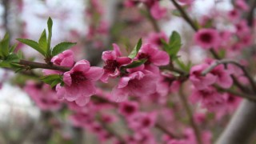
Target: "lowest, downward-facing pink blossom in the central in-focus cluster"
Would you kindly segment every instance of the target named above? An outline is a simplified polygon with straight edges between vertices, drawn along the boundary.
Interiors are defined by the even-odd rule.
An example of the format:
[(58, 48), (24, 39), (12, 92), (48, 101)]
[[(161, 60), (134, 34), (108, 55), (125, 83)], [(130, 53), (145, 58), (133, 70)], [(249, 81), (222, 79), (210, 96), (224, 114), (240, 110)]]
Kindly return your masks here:
[(128, 95), (149, 96), (156, 90), (158, 77), (150, 71), (136, 71), (120, 78), (118, 86), (112, 90), (112, 96), (117, 102), (124, 101)]

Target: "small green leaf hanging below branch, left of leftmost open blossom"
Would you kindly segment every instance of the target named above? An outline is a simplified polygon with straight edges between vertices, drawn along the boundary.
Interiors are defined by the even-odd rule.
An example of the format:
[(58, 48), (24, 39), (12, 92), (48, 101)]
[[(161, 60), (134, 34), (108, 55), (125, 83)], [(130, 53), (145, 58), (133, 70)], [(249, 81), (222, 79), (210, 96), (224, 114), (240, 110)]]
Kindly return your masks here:
[(49, 84), (51, 87), (56, 86), (58, 83), (62, 83), (62, 76), (59, 74), (50, 74), (40, 78), (42, 82)]

